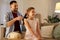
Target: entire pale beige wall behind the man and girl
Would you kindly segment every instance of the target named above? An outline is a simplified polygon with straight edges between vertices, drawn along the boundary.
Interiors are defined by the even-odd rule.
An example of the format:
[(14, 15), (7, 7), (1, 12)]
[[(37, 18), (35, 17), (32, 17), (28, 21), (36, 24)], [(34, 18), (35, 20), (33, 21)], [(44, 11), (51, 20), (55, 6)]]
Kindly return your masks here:
[[(3, 23), (4, 14), (9, 11), (11, 0), (0, 0), (0, 23)], [(41, 14), (42, 22), (48, 15), (52, 15), (55, 10), (55, 3), (60, 0), (16, 0), (18, 2), (19, 12), (24, 14), (28, 7), (35, 7), (36, 12)]]

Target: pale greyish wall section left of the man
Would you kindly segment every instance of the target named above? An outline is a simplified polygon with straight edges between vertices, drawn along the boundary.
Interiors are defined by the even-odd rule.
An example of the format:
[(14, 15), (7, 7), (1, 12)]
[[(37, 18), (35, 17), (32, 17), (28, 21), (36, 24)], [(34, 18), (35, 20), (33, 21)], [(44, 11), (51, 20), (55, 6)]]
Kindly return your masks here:
[(0, 0), (0, 24), (4, 24), (5, 14), (10, 11), (9, 10), (9, 2), (8, 0)]

